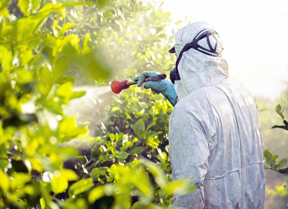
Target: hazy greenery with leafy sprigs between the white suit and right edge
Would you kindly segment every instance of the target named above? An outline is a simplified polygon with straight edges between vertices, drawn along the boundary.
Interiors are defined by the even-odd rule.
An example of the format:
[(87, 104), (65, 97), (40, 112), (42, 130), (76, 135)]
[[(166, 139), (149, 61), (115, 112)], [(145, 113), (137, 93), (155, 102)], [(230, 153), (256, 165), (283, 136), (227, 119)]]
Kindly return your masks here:
[[(288, 88), (287, 88), (288, 89)], [(279, 103), (283, 103), (284, 106), (287, 104), (287, 89), (282, 93), (282, 97), (278, 99)], [(268, 107), (270, 104), (270, 108), (266, 109), (269, 111), (266, 112), (266, 116), (262, 117), (261, 124), (262, 124), (262, 130), (263, 130), (263, 139), (264, 139), (264, 147), (269, 148), (269, 150), (272, 150), (273, 153), (277, 153), (277, 155), (272, 155), (270, 151), (265, 150), (264, 151), (264, 159), (268, 166), (264, 165), (264, 168), (266, 168), (265, 176), (266, 176), (266, 197), (265, 197), (265, 208), (286, 208), (287, 205), (287, 187), (286, 185), (288, 183), (287, 174), (288, 174), (288, 168), (284, 167), (287, 164), (287, 152), (283, 147), (287, 147), (287, 127), (286, 127), (286, 120), (284, 116), (285, 108), (281, 107), (280, 104), (275, 105), (271, 101), (265, 101), (265, 106)], [(276, 103), (277, 104), (277, 103)], [(275, 109), (276, 106), (276, 109)], [(263, 106), (262, 106), (263, 108)], [(286, 107), (287, 108), (287, 107)], [(276, 110), (276, 113), (278, 114), (278, 117), (276, 117), (273, 113), (273, 109)], [(279, 122), (279, 116), (283, 120), (284, 126), (275, 126), (274, 124), (278, 124)], [(274, 126), (272, 129), (270, 127), (273, 124)], [(277, 142), (277, 143), (275, 143)], [(281, 157), (280, 161), (277, 160), (279, 156)], [(273, 172), (269, 172), (269, 170), (274, 170), (280, 174), (279, 175)], [(275, 189), (269, 189), (269, 188), (275, 188)]]

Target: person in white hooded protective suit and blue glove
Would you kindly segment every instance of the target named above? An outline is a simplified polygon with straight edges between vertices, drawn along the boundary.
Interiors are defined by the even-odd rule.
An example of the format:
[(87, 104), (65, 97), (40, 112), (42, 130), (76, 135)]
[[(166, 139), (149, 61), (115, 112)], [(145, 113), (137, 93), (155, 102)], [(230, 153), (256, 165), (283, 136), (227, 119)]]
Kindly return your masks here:
[[(162, 93), (175, 105), (169, 121), (173, 180), (188, 178), (198, 187), (175, 194), (179, 208), (263, 208), (265, 175), (262, 130), (252, 94), (228, 78), (222, 42), (205, 22), (177, 31), (176, 67), (170, 79), (148, 81), (144, 88)], [(145, 77), (158, 74), (145, 72)], [(174, 85), (173, 85), (174, 84)]]

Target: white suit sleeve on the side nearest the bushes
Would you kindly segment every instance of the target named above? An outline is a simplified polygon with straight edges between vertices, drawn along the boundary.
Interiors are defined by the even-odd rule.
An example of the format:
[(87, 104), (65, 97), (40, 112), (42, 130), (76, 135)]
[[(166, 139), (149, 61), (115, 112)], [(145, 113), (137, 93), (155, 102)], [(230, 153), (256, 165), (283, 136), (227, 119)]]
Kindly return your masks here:
[(188, 195), (174, 194), (173, 205), (183, 209), (204, 207), (204, 178), (210, 156), (204, 121), (191, 112), (175, 111), (169, 122), (169, 157), (173, 180), (188, 178), (197, 187)]

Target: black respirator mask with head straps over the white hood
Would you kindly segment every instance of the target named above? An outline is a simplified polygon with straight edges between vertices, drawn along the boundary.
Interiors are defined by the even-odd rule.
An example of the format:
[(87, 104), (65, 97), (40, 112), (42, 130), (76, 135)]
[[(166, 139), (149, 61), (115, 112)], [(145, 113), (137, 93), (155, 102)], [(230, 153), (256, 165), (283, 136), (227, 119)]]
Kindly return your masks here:
[[(207, 39), (207, 43), (209, 46), (209, 49), (204, 48), (203, 46), (199, 45), (198, 41), (200, 41), (201, 39)], [(212, 46), (212, 44), (215, 43), (215, 46)], [(220, 45), (220, 48), (218, 48), (218, 52), (217, 52), (217, 46)], [(170, 72), (170, 80), (172, 81), (173, 84), (175, 84), (175, 81), (179, 81), (180, 75), (178, 72), (178, 64), (181, 60), (181, 57), (183, 55), (184, 52), (190, 50), (191, 48), (202, 52), (204, 54), (207, 54), (209, 56), (213, 56), (213, 57), (221, 57), (222, 56), (222, 42), (221, 39), (218, 35), (218, 33), (216, 31), (214, 31), (213, 29), (204, 29), (202, 31), (200, 31), (192, 40), (192, 42), (187, 43), (182, 51), (179, 54), (179, 57), (177, 58), (176, 56), (176, 52), (175, 52), (175, 47), (173, 46), (168, 52), (170, 52), (170, 56), (171, 56), (171, 60), (175, 60), (175, 57), (177, 58), (176, 60), (176, 66), (175, 68)], [(220, 49), (220, 51), (219, 51)]]

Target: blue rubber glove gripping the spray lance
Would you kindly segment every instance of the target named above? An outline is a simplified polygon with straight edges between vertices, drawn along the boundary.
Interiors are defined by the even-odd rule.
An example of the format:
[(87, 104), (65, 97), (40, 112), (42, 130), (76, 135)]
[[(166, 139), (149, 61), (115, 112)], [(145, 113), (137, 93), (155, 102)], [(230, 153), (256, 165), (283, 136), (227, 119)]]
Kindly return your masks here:
[[(140, 87), (143, 84), (145, 78), (158, 74), (161, 73), (154, 71), (144, 72), (140, 76), (134, 78), (133, 81), (138, 80), (137, 86)], [(144, 88), (151, 88), (153, 94), (163, 94), (163, 96), (165, 96), (165, 98), (173, 105), (173, 107), (175, 106), (177, 94), (174, 89), (174, 84), (168, 78), (165, 78), (161, 81), (147, 81), (144, 85)]]

